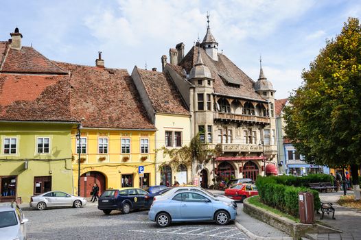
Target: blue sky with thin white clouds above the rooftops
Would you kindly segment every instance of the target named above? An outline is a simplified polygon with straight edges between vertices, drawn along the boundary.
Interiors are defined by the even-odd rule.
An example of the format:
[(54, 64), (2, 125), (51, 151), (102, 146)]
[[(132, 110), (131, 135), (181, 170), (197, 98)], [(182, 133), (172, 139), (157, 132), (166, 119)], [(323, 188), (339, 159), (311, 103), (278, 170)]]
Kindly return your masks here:
[(23, 45), (51, 60), (106, 67), (161, 71), (161, 56), (178, 43), (185, 53), (210, 27), (223, 52), (253, 80), (264, 75), (290, 96), (302, 84), (326, 40), (340, 34), (349, 17), (360, 18), (353, 0), (1, 0), (0, 40), (19, 27)]

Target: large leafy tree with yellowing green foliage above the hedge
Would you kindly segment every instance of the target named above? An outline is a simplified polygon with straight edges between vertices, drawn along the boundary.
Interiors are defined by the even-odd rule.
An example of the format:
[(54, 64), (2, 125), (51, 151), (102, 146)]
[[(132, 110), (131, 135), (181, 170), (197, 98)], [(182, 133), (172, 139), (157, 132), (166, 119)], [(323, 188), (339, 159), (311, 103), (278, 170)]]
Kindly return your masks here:
[(351, 167), (360, 199), (361, 26), (349, 18), (336, 38), (303, 70), (303, 84), (285, 108), (288, 138), (307, 163)]

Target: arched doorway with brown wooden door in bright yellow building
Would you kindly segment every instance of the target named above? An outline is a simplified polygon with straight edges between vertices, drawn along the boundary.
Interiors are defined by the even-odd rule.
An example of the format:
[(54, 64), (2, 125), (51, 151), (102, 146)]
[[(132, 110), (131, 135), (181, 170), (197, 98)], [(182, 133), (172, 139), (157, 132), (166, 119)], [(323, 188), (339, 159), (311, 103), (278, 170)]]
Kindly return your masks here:
[(88, 171), (80, 176), (80, 195), (82, 197), (91, 197), (91, 189), (94, 184), (99, 187), (99, 195), (106, 189), (105, 176), (99, 171)]

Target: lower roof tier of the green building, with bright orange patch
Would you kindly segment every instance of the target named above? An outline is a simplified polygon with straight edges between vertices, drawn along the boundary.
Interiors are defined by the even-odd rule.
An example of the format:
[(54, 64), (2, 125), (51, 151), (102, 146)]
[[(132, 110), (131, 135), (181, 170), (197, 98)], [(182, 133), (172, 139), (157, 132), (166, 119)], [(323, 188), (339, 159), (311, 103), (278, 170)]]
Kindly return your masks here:
[(68, 75), (0, 73), (0, 120), (71, 121)]

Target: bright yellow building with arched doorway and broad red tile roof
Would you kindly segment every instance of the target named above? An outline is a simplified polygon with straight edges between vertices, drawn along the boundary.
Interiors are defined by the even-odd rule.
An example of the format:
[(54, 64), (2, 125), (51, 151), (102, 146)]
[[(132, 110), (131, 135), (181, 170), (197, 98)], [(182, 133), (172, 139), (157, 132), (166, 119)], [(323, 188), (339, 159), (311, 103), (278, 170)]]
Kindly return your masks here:
[[(78, 129), (71, 132), (74, 191), (90, 197), (94, 183), (105, 189), (154, 184), (155, 132), (128, 72), (56, 62), (71, 73), (71, 115)], [(143, 166), (143, 181), (139, 167)]]

